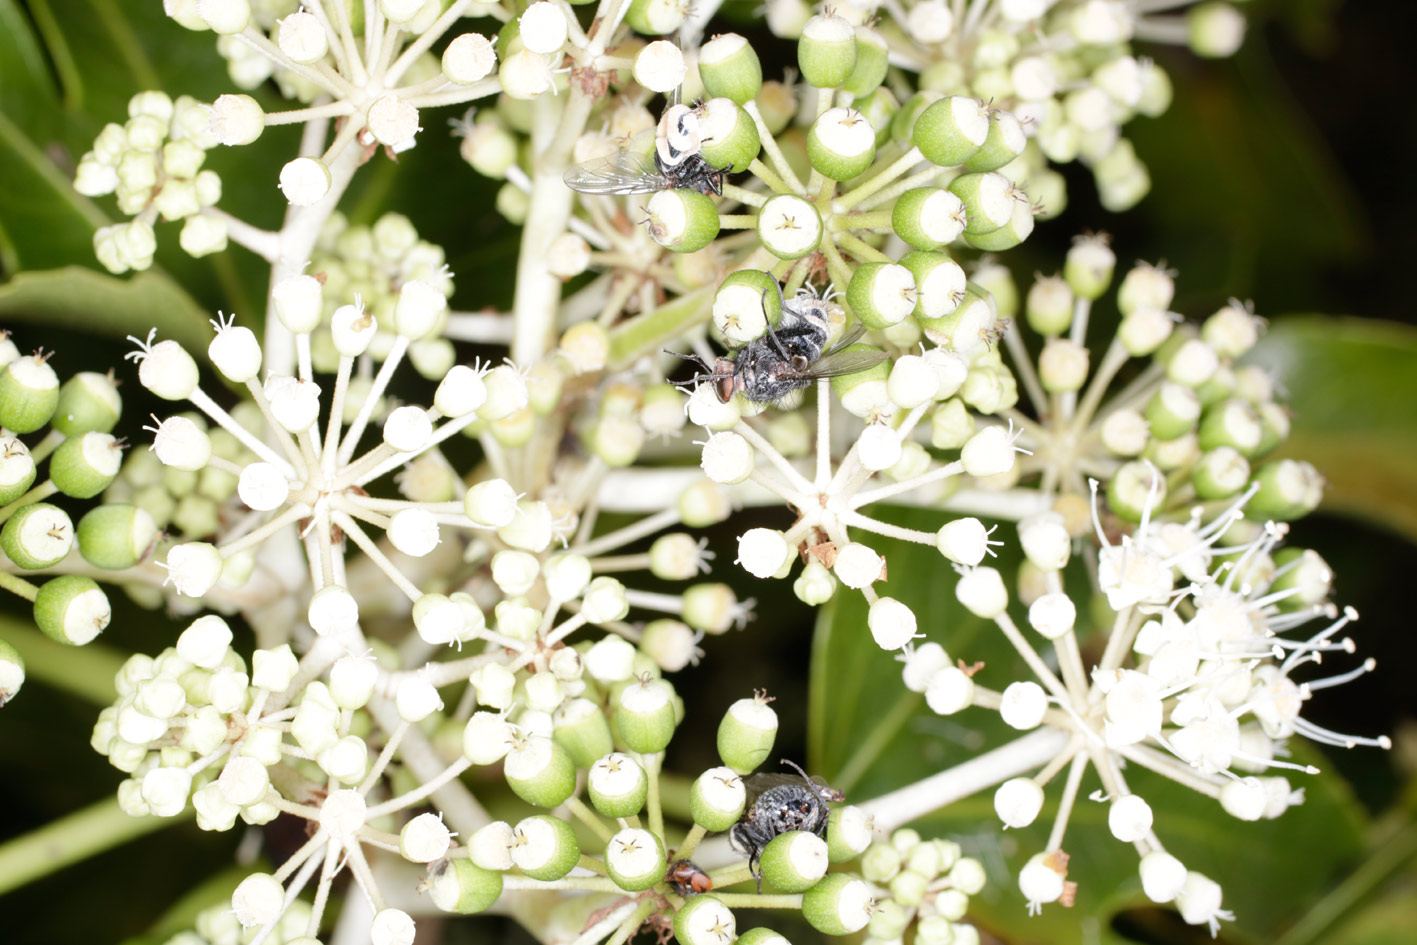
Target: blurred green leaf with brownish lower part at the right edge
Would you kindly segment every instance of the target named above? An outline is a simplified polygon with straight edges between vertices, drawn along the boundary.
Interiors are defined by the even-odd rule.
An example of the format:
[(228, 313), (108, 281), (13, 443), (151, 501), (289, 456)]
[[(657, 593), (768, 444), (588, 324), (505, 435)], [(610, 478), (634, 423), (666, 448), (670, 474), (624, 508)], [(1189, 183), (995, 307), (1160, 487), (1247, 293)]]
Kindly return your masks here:
[(1250, 356), (1285, 391), (1294, 429), (1282, 455), (1314, 463), (1323, 507), (1417, 541), (1417, 329), (1294, 316)]

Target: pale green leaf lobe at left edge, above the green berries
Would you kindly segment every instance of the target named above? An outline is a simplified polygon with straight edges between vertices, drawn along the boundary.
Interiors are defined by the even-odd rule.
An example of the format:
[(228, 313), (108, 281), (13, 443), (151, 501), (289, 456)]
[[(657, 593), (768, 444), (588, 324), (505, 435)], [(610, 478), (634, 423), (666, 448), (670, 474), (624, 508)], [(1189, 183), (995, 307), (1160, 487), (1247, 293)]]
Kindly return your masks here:
[[(119, 279), (103, 272), (65, 266), (21, 272), (0, 286), (0, 322), (43, 324), (43, 341), (55, 330), (111, 334), (147, 334), (176, 339), (191, 351), (205, 351), (211, 340), (208, 315), (187, 292), (162, 272), (139, 272)], [(21, 339), (23, 340), (23, 339)]]

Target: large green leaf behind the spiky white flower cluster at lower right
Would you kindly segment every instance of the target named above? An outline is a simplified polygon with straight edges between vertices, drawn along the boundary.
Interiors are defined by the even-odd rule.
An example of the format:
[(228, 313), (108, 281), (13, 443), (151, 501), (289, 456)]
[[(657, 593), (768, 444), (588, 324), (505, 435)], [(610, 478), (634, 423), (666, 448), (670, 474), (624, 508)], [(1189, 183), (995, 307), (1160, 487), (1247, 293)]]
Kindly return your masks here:
[[(934, 528), (938, 517), (920, 510), (876, 510), (877, 516), (914, 528)], [(920, 629), (941, 643), (951, 659), (982, 662), (979, 684), (1002, 690), (1030, 679), (1017, 653), (992, 623), (969, 615), (954, 595), (956, 577), (934, 548), (871, 537), (890, 567), (890, 579), (877, 587), (911, 606)], [(1006, 541), (996, 564), (1016, 572), (1015, 541)], [(1068, 575), (1070, 594), (1087, 601), (1085, 574)], [(1074, 579), (1077, 585), (1074, 587)], [(1081, 647), (1094, 652), (1101, 640), (1080, 622)], [(1022, 622), (1022, 608), (1015, 605)], [(823, 611), (812, 652), (809, 757), (812, 768), (853, 799), (880, 796), (891, 789), (968, 761), (1016, 738), (996, 713), (982, 708), (939, 717), (924, 700), (905, 691), (901, 666), (871, 640), (866, 604), (856, 594), (837, 595)], [(1306, 761), (1304, 747), (1294, 747)], [(1318, 757), (1314, 757), (1318, 761)], [(1071, 942), (1129, 941), (1128, 927), (1145, 927), (1159, 915), (1141, 891), (1135, 850), (1115, 840), (1107, 827), (1107, 806), (1087, 799), (1100, 788), (1090, 769), (1068, 820), (1063, 847), (1071, 856), (1068, 878), (1078, 884), (1071, 910), (1049, 905), (1029, 917), (1017, 891), (1017, 871), (1044, 849), (1061, 792), (1061, 776), (1047, 789), (1049, 803), (1039, 820), (1023, 830), (999, 830), (993, 791), (982, 791), (917, 823), (922, 833), (961, 842), (989, 873), (989, 885), (971, 900), (971, 914), (1005, 941)], [(1278, 820), (1241, 823), (1219, 803), (1151, 775), (1127, 771), (1128, 785), (1146, 798), (1156, 815), (1156, 833), (1187, 867), (1220, 883), (1224, 908), (1236, 921), (1226, 935), (1237, 941), (1268, 941), (1292, 921), (1342, 870), (1362, 853), (1363, 815), (1346, 785), (1331, 775), (1294, 779), (1306, 802)], [(1275, 895), (1275, 890), (1284, 890)], [(1125, 917), (1121, 925), (1114, 924)], [(1168, 921), (1176, 921), (1169, 917)]]

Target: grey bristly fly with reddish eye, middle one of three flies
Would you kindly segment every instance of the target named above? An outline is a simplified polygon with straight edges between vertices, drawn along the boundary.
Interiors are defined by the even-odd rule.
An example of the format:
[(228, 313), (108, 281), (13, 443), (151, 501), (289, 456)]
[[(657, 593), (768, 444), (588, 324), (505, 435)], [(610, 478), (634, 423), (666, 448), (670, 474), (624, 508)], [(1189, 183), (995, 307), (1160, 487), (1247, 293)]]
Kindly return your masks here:
[(818, 378), (856, 374), (886, 360), (884, 351), (845, 350), (866, 332), (862, 323), (849, 329), (832, 347), (825, 347), (830, 333), (828, 316), (828, 298), (803, 288), (792, 299), (782, 300), (782, 317), (777, 327), (769, 324), (762, 337), (728, 351), (713, 367), (691, 354), (666, 353), (703, 368), (684, 385), (713, 381), (724, 404), (734, 394), (758, 404), (775, 404)]

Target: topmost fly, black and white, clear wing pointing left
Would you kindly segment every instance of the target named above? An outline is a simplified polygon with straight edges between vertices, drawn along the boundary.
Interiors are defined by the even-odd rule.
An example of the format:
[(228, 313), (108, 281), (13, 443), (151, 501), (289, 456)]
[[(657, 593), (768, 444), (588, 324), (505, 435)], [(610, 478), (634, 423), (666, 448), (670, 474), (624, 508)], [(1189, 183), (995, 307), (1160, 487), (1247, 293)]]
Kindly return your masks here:
[(625, 150), (567, 170), (565, 186), (582, 194), (653, 194), (660, 190), (721, 194), (723, 171), (703, 159), (701, 146), (699, 112), (687, 105), (670, 105), (659, 119), (652, 149), (649, 140), (640, 142), (636, 135)]

